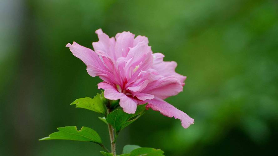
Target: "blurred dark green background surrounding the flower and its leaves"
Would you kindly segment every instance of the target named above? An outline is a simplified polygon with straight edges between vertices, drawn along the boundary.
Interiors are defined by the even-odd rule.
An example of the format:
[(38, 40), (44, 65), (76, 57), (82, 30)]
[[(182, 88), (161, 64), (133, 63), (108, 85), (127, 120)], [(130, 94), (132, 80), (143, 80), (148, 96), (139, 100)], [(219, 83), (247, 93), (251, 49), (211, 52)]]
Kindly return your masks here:
[(98, 114), (69, 104), (93, 97), (101, 80), (65, 45), (92, 48), (94, 31), (130, 31), (178, 62), (184, 91), (167, 101), (195, 119), (148, 110), (120, 133), (125, 144), (166, 156), (278, 155), (277, 0), (1, 0), (0, 155), (100, 155), (97, 144), (38, 139), (67, 125), (95, 129)]

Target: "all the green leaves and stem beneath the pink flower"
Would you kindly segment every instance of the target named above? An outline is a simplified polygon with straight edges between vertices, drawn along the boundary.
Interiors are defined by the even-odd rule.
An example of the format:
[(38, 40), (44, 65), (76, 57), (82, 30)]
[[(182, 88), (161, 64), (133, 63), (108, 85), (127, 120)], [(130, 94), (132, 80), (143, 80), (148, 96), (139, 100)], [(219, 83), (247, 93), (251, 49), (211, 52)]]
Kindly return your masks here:
[[(109, 103), (108, 105), (106, 105)], [(112, 105), (111, 105), (112, 104)], [(99, 117), (101, 121), (105, 124), (112, 125), (115, 129), (115, 138), (111, 140), (111, 148), (112, 142), (116, 143), (116, 139), (118, 137), (118, 133), (120, 130), (124, 129), (129, 124), (133, 123), (140, 116), (142, 116), (146, 110), (146, 104), (138, 105), (137, 110), (134, 114), (127, 114), (123, 110), (116, 108), (119, 104), (118, 100), (108, 100), (103, 96), (103, 92), (101, 94), (97, 94), (93, 99), (89, 97), (79, 98), (70, 105), (76, 105), (76, 108), (84, 108), (88, 110), (92, 110), (97, 113), (104, 114), (104, 117)], [(106, 108), (107, 107), (107, 108)], [(114, 110), (113, 110), (114, 109)], [(106, 115), (107, 110), (112, 110), (111, 113)], [(102, 144), (99, 134), (91, 128), (82, 127), (80, 130), (77, 129), (76, 126), (66, 126), (57, 128), (59, 131), (50, 134), (48, 137), (44, 137), (41, 140), (75, 140), (75, 141), (88, 141), (99, 144), (103, 149), (108, 152), (100, 151), (104, 156), (113, 156), (112, 153), (109, 153), (109, 150)], [(111, 134), (112, 133), (112, 134)], [(109, 129), (109, 135), (113, 135), (113, 131)], [(111, 139), (111, 138), (110, 138)], [(151, 148), (140, 148), (140, 150), (135, 150), (140, 148), (137, 145), (126, 145), (123, 149), (122, 156), (135, 156), (135, 155), (153, 155), (153, 154), (161, 154), (160, 150), (151, 149)], [(135, 150), (135, 151), (134, 151)], [(112, 150), (113, 151), (113, 150)], [(162, 152), (163, 154), (163, 152)], [(116, 155), (117, 156), (117, 155)]]

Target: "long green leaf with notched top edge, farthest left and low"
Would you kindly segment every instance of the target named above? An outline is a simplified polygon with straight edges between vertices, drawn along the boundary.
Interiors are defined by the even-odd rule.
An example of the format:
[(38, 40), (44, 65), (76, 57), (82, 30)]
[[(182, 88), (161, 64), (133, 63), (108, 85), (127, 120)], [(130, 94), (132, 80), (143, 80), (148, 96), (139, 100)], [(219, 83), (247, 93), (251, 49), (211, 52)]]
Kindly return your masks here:
[(101, 144), (101, 139), (99, 134), (88, 127), (82, 127), (77, 130), (76, 126), (66, 126), (57, 128), (59, 132), (54, 132), (48, 137), (44, 137), (39, 140), (76, 140), (76, 141), (90, 141), (97, 144)]

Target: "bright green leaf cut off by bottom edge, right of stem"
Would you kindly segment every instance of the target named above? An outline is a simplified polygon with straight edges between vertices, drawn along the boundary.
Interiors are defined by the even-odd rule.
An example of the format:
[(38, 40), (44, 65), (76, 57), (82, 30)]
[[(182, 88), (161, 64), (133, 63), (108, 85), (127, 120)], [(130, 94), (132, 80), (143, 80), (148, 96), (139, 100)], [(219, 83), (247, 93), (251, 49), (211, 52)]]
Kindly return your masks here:
[(164, 156), (164, 152), (160, 149), (142, 147), (131, 151), (129, 156)]

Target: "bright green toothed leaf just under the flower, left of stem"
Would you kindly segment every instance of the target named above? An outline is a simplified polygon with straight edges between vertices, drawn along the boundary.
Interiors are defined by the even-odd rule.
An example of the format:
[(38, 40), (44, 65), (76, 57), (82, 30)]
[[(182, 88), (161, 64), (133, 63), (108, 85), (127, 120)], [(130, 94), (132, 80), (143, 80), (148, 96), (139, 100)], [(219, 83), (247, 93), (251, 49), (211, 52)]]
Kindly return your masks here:
[(97, 94), (94, 97), (94, 99), (89, 97), (79, 98), (73, 101), (73, 103), (71, 103), (70, 105), (76, 105), (76, 108), (85, 108), (87, 110), (92, 110), (97, 113), (105, 114), (105, 102), (101, 97), (102, 95)]

